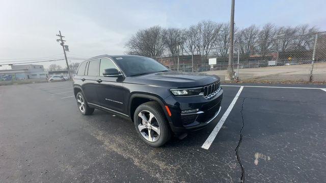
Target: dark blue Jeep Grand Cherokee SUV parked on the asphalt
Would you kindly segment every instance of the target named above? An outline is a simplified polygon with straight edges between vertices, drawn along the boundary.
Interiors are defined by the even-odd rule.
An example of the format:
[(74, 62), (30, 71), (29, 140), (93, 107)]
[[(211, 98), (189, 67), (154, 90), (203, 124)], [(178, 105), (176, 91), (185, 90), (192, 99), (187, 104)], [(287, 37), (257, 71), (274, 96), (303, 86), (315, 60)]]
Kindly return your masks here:
[(184, 138), (220, 112), (220, 78), (168, 70), (156, 60), (134, 55), (100, 55), (80, 64), (73, 79), (80, 112), (100, 109), (131, 119), (151, 146), (174, 133)]

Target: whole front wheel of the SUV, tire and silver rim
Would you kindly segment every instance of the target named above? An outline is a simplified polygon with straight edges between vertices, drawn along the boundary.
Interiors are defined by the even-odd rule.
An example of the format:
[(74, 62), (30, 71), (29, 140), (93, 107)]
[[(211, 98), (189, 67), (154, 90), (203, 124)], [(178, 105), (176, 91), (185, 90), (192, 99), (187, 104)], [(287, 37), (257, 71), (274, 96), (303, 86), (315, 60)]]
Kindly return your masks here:
[(133, 115), (134, 126), (145, 143), (159, 147), (171, 138), (171, 130), (157, 102), (146, 102)]

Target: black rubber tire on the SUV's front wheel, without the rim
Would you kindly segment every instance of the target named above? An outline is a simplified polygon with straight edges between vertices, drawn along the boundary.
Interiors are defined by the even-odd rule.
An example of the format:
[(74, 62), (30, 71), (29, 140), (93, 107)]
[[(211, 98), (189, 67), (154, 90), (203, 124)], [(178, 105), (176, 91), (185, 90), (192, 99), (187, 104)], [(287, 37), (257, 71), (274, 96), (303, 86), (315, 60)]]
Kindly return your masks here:
[[(149, 141), (148, 139), (146, 139), (142, 135), (141, 131), (139, 130), (138, 126), (139, 125), (144, 125), (144, 124), (140, 124), (140, 123), (142, 123), (141, 121), (143, 121), (143, 120), (142, 120), (141, 117), (138, 116), (138, 114), (140, 114), (141, 112), (144, 112), (144, 111), (145, 112), (150, 112), (150, 113), (152, 113), (154, 115), (155, 119), (153, 119), (154, 122), (152, 124), (152, 127), (155, 127), (157, 125), (159, 127), (160, 134), (159, 134), (158, 138), (155, 141)], [(153, 147), (162, 146), (167, 141), (169, 141), (171, 136), (172, 136), (172, 131), (171, 131), (170, 126), (168, 124), (168, 120), (167, 120), (161, 106), (157, 102), (154, 102), (154, 101), (146, 102), (146, 103), (138, 106), (137, 109), (134, 112), (133, 121), (134, 121), (135, 129), (138, 132), (138, 134), (140, 135), (140, 137), (143, 139), (143, 141), (145, 143), (147, 143), (150, 146), (153, 146)], [(156, 124), (155, 126), (154, 126), (154, 123)], [(143, 129), (143, 130), (146, 131), (147, 129)], [(149, 133), (149, 132), (150, 131), (148, 131), (147, 133)], [(152, 130), (152, 133), (156, 133), (156, 131)], [(144, 134), (144, 132), (143, 132), (143, 134)], [(158, 134), (156, 133), (156, 135), (158, 135)]]

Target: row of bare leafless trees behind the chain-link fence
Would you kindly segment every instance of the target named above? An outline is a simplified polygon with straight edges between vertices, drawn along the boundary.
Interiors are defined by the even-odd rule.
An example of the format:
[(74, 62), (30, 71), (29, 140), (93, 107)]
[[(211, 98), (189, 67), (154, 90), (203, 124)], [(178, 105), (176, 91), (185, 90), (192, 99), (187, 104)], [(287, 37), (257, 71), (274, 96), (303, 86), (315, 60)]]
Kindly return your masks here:
[[(314, 44), (314, 33), (319, 28), (309, 24), (276, 26), (272, 23), (246, 28), (234, 28), (234, 45), (239, 44), (240, 54), (261, 55), (271, 50), (309, 50)], [(301, 36), (304, 35), (304, 36)], [(163, 28), (159, 25), (139, 29), (125, 44), (127, 54), (148, 57), (162, 55), (215, 54), (228, 56), (230, 46), (230, 24), (203, 20), (188, 28)], [(279, 41), (274, 41), (279, 40)], [(213, 51), (212, 51), (213, 49)]]

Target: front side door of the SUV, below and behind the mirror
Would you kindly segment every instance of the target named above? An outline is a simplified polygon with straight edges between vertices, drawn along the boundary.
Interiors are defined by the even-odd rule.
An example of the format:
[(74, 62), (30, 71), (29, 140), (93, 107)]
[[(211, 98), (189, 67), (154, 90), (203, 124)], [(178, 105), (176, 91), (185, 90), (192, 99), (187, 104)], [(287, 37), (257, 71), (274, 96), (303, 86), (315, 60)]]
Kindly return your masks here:
[(124, 98), (126, 97), (126, 88), (123, 87), (123, 77), (104, 77), (103, 70), (119, 68), (114, 64), (111, 58), (101, 58), (100, 60), (100, 75), (97, 80), (100, 80), (97, 87), (98, 100), (100, 105), (108, 110), (118, 113), (126, 114), (126, 104)]

